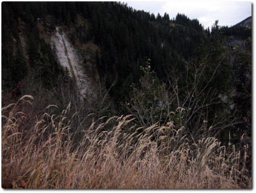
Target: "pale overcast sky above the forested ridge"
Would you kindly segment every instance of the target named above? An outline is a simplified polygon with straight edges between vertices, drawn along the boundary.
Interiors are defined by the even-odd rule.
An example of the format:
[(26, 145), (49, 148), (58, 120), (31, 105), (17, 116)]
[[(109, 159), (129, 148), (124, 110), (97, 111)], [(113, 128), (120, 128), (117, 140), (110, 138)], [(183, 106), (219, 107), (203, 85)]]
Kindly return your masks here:
[(170, 19), (177, 13), (184, 13), (190, 19), (198, 19), (205, 28), (211, 29), (216, 20), (219, 25), (235, 25), (252, 15), (252, 2), (249, 1), (125, 1), (136, 10), (160, 13), (166, 12)]

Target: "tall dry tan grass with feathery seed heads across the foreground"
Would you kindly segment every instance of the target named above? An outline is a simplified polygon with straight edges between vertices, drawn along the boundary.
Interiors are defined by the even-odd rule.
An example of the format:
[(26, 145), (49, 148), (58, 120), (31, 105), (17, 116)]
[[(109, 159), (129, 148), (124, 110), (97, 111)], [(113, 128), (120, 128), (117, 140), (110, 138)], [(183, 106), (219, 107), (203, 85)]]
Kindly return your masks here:
[(191, 143), (172, 122), (136, 128), (132, 116), (94, 121), (74, 142), (70, 106), (32, 118), (31, 99), (2, 108), (2, 188), (252, 188), (246, 147)]

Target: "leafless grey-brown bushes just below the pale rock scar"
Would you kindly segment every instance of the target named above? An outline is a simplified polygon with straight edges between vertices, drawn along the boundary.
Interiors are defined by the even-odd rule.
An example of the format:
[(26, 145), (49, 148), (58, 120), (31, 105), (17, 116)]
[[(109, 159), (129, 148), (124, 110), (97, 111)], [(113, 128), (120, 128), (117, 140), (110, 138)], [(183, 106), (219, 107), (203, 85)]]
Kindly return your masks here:
[[(104, 86), (88, 86), (84, 98), (81, 97), (79, 89), (71, 78), (59, 77), (56, 86), (46, 89), (41, 78), (28, 76), (21, 89), (23, 95), (33, 95), (34, 100), (31, 106), (31, 113), (41, 116), (45, 113), (45, 108), (54, 104), (46, 110), (49, 114), (59, 115), (62, 109), (70, 105), (70, 110), (65, 116), (70, 119), (70, 130), (73, 133), (73, 140), (81, 138), (80, 134), (84, 128), (90, 127), (93, 119), (102, 116), (110, 117), (114, 114), (113, 103), (108, 96), (108, 91)], [(48, 119), (48, 121), (51, 121)]]

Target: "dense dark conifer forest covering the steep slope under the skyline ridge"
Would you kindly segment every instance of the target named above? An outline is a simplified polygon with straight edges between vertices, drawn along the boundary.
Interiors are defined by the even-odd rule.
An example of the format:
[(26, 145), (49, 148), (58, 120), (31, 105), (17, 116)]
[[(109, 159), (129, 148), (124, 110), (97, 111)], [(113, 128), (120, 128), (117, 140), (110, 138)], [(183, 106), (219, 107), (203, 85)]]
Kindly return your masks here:
[[(5, 14), (5, 11), (8, 13)], [(139, 80), (139, 68), (145, 64), (146, 57), (151, 59), (151, 69), (165, 81), (170, 66), (175, 65), (180, 71), (185, 68), (182, 60), (188, 61), (192, 57), (197, 43), (203, 37), (199, 21), (191, 21), (184, 14), (177, 14), (172, 21), (168, 14), (163, 17), (159, 14), (154, 16), (117, 2), (17, 2), (4, 4), (2, 26), (9, 31), (9, 34), (5, 34), (7, 30), (4, 30), (4, 40), (10, 39), (10, 33), (18, 39), (18, 22), (24, 21), (30, 25), (26, 26), (31, 33), (31, 48), (28, 49), (31, 50), (30, 56), (34, 57), (34, 52), (38, 52), (36, 46), (39, 45), (36, 21), (48, 14), (54, 17), (55, 24), (74, 24), (77, 14), (88, 19), (91, 30), (85, 31), (77, 27), (77, 30), (84, 30), (84, 35), (79, 36), (79, 40), (86, 42), (93, 39), (100, 46), (101, 59), (97, 68), (101, 76), (107, 76), (107, 87), (118, 74), (115, 90), (111, 91), (113, 95), (117, 95), (116, 98), (120, 95), (123, 97), (120, 88), (129, 75), (133, 77), (133, 81)]]

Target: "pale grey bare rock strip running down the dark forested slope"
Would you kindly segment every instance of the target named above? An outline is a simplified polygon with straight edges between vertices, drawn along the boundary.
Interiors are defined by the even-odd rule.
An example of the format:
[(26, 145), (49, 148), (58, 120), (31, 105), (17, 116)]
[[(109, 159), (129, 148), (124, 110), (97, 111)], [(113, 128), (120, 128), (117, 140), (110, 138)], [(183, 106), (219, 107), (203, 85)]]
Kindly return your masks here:
[(80, 95), (84, 98), (90, 83), (88, 82), (88, 76), (80, 65), (76, 49), (74, 49), (65, 33), (59, 27), (56, 27), (56, 34), (51, 36), (51, 42), (56, 47), (59, 62), (64, 68), (68, 69), (70, 76), (76, 80)]

